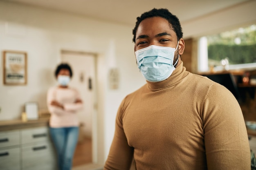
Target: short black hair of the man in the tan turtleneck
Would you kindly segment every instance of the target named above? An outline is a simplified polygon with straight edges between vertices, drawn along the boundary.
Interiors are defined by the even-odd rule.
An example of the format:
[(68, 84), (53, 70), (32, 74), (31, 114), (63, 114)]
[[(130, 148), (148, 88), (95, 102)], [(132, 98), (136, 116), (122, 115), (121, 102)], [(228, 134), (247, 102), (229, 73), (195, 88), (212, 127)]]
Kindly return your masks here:
[(132, 30), (132, 34), (133, 34), (132, 41), (133, 42), (135, 42), (137, 29), (138, 29), (141, 21), (145, 20), (146, 18), (152, 18), (152, 17), (162, 17), (162, 18), (166, 19), (170, 24), (170, 28), (173, 29), (173, 31), (176, 33), (177, 40), (180, 40), (182, 38), (183, 33), (182, 33), (182, 28), (180, 26), (179, 19), (175, 15), (173, 15), (171, 12), (169, 12), (168, 9), (162, 9), (162, 8), (155, 9), (154, 8), (148, 12), (142, 13), (140, 17), (137, 17), (137, 22), (135, 24), (134, 29)]

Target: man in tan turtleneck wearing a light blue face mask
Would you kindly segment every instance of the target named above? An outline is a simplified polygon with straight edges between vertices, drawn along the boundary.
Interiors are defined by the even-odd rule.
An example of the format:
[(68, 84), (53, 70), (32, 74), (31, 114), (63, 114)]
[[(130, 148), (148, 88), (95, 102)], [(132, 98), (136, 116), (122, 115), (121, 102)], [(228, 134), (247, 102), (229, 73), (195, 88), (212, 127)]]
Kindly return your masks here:
[(183, 67), (182, 28), (167, 9), (137, 18), (137, 65), (147, 83), (122, 101), (105, 170), (249, 170), (243, 114), (224, 86)]

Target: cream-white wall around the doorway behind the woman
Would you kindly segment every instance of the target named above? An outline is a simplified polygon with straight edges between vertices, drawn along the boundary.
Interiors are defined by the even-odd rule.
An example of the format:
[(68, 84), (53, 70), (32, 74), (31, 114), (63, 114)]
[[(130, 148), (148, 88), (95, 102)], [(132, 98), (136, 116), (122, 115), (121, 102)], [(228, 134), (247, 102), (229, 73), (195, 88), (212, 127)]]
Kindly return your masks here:
[[(145, 83), (136, 66), (132, 27), (0, 1), (0, 51), (4, 50), (27, 52), (28, 83), (3, 85), (1, 57), (0, 121), (20, 119), (25, 102), (37, 101), (40, 109), (46, 108), (46, 92), (56, 84), (53, 72), (60, 62), (61, 50), (97, 54), (97, 138), (102, 141), (98, 145), (98, 161), (103, 162), (112, 142), (121, 100)], [(108, 71), (112, 67), (120, 71), (117, 90), (108, 87)]]

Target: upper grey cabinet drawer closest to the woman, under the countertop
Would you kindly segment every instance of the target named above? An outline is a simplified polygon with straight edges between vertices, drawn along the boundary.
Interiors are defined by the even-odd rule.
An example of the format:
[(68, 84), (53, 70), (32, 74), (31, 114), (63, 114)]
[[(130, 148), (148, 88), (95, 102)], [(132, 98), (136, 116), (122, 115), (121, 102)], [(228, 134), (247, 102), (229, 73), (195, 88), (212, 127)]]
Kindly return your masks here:
[(49, 129), (47, 127), (21, 130), (21, 144), (47, 140), (49, 140)]

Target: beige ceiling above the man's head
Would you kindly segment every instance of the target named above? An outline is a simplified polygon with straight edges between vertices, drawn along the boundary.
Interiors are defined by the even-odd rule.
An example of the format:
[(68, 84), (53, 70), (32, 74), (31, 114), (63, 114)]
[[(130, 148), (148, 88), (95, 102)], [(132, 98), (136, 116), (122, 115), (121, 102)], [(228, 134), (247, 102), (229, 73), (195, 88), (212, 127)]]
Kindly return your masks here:
[(134, 26), (137, 16), (167, 8), (181, 23), (224, 10), (248, 0), (5, 0)]

